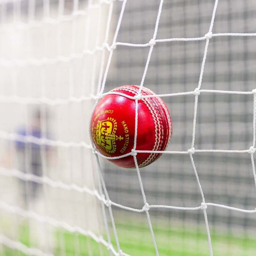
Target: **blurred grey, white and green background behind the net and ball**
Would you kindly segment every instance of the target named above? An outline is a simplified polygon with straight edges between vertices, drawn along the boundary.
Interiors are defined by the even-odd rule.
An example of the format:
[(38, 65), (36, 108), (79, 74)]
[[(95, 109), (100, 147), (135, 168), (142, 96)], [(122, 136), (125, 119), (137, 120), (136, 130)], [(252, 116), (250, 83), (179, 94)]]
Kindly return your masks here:
[[(112, 44), (122, 4), (0, 2), (0, 255), (111, 255), (91, 236), (108, 240), (105, 213), (117, 251), (107, 208), (102, 209), (94, 192), (101, 188), (88, 123), (108, 60), (104, 43)], [(159, 4), (128, 0), (117, 42), (148, 43)], [(204, 36), (213, 6), (213, 0), (164, 1), (156, 39)], [(212, 32), (255, 33), (255, 24), (253, 0), (220, 0)], [(201, 89), (255, 89), (255, 45), (254, 36), (212, 37)], [(205, 40), (157, 43), (144, 86), (156, 94), (194, 91), (204, 47)], [(148, 51), (149, 47), (117, 46), (104, 92), (123, 84), (139, 85)], [(191, 147), (195, 96), (163, 100), (173, 124), (167, 150), (186, 151)], [(195, 148), (249, 149), (252, 114), (253, 95), (202, 92)], [(250, 154), (193, 157), (206, 202), (255, 209)], [(100, 164), (110, 199), (141, 209), (136, 170), (105, 159)], [(202, 202), (189, 155), (164, 154), (140, 174), (151, 205), (196, 207)], [(145, 212), (115, 206), (112, 210), (122, 251), (156, 255)], [(149, 213), (159, 255), (210, 255), (202, 210), (156, 208)], [(255, 213), (208, 206), (207, 216), (213, 255), (256, 254)]]

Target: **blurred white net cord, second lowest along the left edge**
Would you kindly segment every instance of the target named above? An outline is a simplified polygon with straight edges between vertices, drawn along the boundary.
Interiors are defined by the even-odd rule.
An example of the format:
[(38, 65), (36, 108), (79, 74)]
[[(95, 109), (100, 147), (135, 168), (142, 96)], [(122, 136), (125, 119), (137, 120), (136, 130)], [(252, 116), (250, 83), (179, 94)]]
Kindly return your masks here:
[(94, 239), (97, 243), (101, 243), (105, 245), (109, 250), (111, 250), (114, 253), (114, 255), (118, 256), (118, 253), (116, 252), (112, 244), (109, 244), (108, 242), (106, 242), (102, 236), (95, 235), (92, 231), (87, 231), (78, 226), (71, 226), (67, 222), (55, 220), (49, 216), (43, 216), (33, 211), (24, 210), (18, 206), (7, 204), (4, 201), (0, 201), (0, 209), (4, 210), (5, 212), (17, 214), (19, 216), (30, 218), (41, 223), (50, 224), (56, 228), (63, 228), (71, 233), (79, 233), (84, 236), (89, 236), (92, 239)]

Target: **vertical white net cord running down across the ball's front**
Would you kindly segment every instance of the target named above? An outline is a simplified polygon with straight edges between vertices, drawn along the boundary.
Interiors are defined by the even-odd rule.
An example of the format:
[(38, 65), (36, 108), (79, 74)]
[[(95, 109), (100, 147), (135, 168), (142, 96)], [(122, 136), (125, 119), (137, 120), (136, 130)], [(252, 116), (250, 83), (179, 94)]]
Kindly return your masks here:
[[(148, 59), (147, 59), (147, 62), (146, 62), (146, 66), (145, 66), (145, 69), (144, 69), (144, 73), (143, 73), (143, 76), (142, 76), (142, 79), (141, 79), (140, 88), (138, 90), (137, 96), (140, 96), (140, 92), (142, 90), (144, 80), (145, 80), (145, 77), (146, 77), (146, 74), (147, 74), (150, 57), (151, 57), (151, 54), (153, 52), (153, 47), (156, 44), (155, 39), (156, 39), (156, 34), (157, 34), (158, 24), (159, 24), (161, 12), (162, 12), (163, 3), (164, 3), (164, 0), (161, 0), (161, 2), (159, 4), (158, 13), (157, 13), (156, 25), (155, 25), (153, 38), (150, 40), (151, 45), (150, 45), (150, 49), (149, 49), (149, 52), (148, 52)], [(140, 184), (140, 190), (141, 190), (141, 194), (142, 194), (142, 197), (143, 197), (143, 202), (144, 202), (145, 212), (146, 212), (147, 219), (148, 219), (148, 225), (149, 225), (151, 237), (152, 237), (154, 248), (155, 248), (155, 251), (156, 251), (156, 256), (158, 256), (159, 252), (158, 252), (158, 248), (157, 248), (157, 244), (156, 244), (156, 238), (155, 238), (152, 223), (151, 223), (151, 220), (150, 220), (150, 215), (148, 213), (149, 207), (148, 207), (148, 203), (147, 203), (147, 200), (146, 200), (146, 195), (145, 195), (145, 192), (144, 192), (142, 180), (141, 180), (141, 177), (140, 177), (140, 169), (139, 169), (139, 166), (138, 166), (138, 163), (137, 163), (137, 158), (136, 158), (137, 153), (135, 153), (136, 144), (137, 144), (137, 132), (138, 132), (138, 99), (135, 99), (135, 132), (134, 132), (134, 143), (133, 143), (133, 150), (134, 150), (133, 159), (134, 159), (134, 163), (135, 163), (136, 170), (137, 170), (137, 175), (138, 175), (139, 184)]]

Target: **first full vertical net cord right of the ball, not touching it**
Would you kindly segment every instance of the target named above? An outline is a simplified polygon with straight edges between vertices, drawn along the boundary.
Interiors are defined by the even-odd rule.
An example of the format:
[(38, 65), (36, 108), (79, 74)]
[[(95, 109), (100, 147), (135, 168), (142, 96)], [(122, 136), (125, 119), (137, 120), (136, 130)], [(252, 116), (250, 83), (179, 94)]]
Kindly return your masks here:
[(193, 132), (192, 132), (192, 143), (191, 143), (191, 150), (189, 152), (189, 156), (190, 156), (190, 160), (193, 166), (193, 170), (195, 172), (196, 175), (196, 181), (202, 196), (202, 201), (203, 201), (203, 211), (204, 211), (204, 220), (205, 220), (205, 227), (206, 227), (206, 233), (207, 233), (207, 237), (208, 237), (208, 246), (209, 246), (209, 250), (210, 250), (210, 255), (213, 256), (213, 251), (212, 251), (212, 242), (211, 242), (211, 235), (210, 235), (210, 229), (209, 229), (209, 223), (208, 223), (208, 219), (207, 219), (207, 213), (206, 213), (206, 208), (207, 206), (205, 205), (205, 200), (204, 200), (204, 193), (203, 193), (203, 189), (201, 187), (200, 184), (200, 180), (196, 171), (196, 166), (194, 163), (194, 159), (192, 154), (195, 152), (195, 148), (194, 148), (194, 144), (195, 144), (195, 134), (196, 134), (196, 111), (197, 111), (197, 103), (198, 103), (198, 95), (200, 94), (199, 90), (201, 88), (201, 84), (202, 84), (202, 79), (203, 79), (203, 74), (204, 74), (204, 65), (205, 65), (205, 60), (206, 60), (206, 56), (207, 56), (207, 50), (208, 50), (208, 45), (209, 45), (209, 38), (212, 37), (212, 27), (213, 27), (213, 23), (214, 23), (214, 18), (215, 18), (215, 13), (216, 13), (216, 9), (217, 9), (217, 5), (218, 5), (218, 0), (215, 0), (214, 3), (214, 7), (213, 7), (213, 12), (212, 12), (212, 20), (210, 23), (210, 28), (208, 33), (205, 35), (206, 36), (206, 44), (205, 44), (205, 48), (204, 48), (204, 57), (203, 57), (203, 61), (202, 61), (202, 66), (201, 66), (201, 72), (200, 72), (200, 76), (199, 76), (199, 82), (198, 82), (198, 87), (195, 90), (195, 107), (194, 107), (194, 120), (193, 120)]

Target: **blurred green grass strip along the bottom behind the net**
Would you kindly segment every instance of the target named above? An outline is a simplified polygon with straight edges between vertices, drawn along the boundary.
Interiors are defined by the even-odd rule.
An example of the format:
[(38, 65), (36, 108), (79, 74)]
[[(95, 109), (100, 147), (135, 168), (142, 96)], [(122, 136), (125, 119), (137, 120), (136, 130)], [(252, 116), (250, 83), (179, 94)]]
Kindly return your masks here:
[[(155, 249), (147, 226), (133, 222), (116, 223), (120, 247), (123, 252), (133, 256), (155, 256)], [(209, 256), (208, 240), (205, 230), (181, 227), (154, 227), (154, 234), (161, 256)], [(92, 238), (65, 230), (56, 230), (56, 256), (102, 256), (109, 255), (107, 248)], [(256, 240), (248, 236), (234, 237), (228, 234), (211, 232), (214, 256), (254, 256)], [(107, 240), (106, 237), (104, 237)], [(113, 233), (111, 241), (117, 250)], [(20, 228), (20, 242), (29, 244), (29, 228)], [(5, 246), (0, 247), (2, 256), (25, 256)]]

